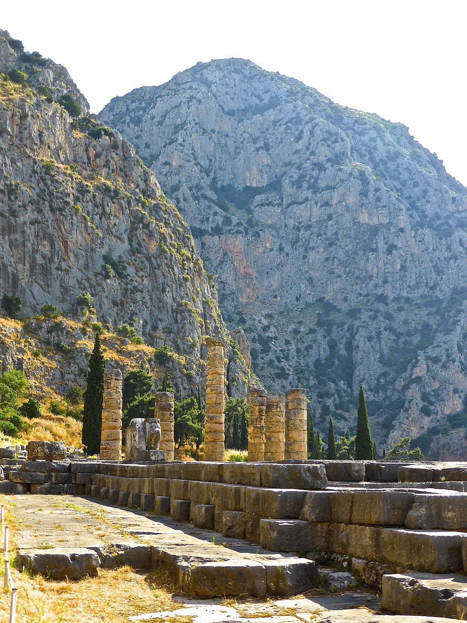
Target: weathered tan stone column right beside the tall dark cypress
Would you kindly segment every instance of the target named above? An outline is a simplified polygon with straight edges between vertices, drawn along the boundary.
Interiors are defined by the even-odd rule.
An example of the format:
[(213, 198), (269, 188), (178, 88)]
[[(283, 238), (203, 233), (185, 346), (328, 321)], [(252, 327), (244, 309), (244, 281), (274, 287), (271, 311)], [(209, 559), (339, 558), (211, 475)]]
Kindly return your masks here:
[(122, 384), (123, 380), (120, 370), (105, 371), (99, 453), (101, 459), (121, 460)]

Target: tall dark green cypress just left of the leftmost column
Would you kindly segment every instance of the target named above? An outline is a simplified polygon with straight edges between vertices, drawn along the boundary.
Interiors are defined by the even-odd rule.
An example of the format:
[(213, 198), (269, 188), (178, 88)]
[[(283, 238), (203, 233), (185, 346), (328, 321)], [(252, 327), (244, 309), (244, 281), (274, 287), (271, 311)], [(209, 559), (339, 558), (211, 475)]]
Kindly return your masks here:
[(100, 346), (99, 333), (96, 333), (94, 348), (89, 359), (86, 391), (83, 394), (82, 440), (89, 455), (98, 454), (100, 451), (104, 372), (105, 359)]

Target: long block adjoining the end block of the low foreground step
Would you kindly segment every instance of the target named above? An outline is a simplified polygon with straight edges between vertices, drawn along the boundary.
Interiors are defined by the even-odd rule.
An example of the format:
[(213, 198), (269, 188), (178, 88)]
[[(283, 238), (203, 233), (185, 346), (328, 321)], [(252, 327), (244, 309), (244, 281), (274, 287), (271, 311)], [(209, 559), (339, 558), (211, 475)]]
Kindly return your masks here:
[(183, 589), (199, 597), (264, 597), (266, 570), (261, 563), (245, 559), (204, 563), (186, 572)]

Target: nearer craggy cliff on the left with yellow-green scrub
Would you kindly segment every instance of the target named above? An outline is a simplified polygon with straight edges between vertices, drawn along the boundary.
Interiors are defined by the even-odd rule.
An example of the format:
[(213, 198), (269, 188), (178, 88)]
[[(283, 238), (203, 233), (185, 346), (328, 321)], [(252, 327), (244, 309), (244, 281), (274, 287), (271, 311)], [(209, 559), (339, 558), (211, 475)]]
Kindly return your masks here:
[[(201, 337), (226, 330), (186, 222), (128, 141), (87, 115), (63, 67), (0, 31), (0, 72), (0, 294), (20, 297), (22, 316), (48, 304), (87, 321), (52, 327), (64, 336), (51, 335), (49, 346), (82, 341), (90, 320), (110, 332), (130, 323), (159, 349), (181, 394), (196, 392)], [(44, 338), (44, 318), (27, 330)], [(2, 350), (4, 367), (16, 366), (14, 344)], [(230, 358), (232, 394), (242, 395), (248, 371), (238, 352)], [(81, 359), (55, 366), (46, 380), (66, 389), (83, 367)]]

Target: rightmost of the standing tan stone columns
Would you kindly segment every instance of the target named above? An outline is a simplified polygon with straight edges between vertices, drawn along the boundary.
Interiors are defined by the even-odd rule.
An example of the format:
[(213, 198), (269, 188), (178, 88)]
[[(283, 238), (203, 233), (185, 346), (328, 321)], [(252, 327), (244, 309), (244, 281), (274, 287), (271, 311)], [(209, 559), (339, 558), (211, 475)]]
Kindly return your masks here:
[(284, 459), (306, 458), (306, 389), (289, 389), (285, 401)]

